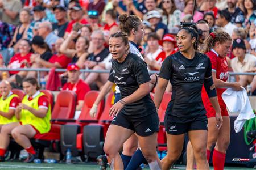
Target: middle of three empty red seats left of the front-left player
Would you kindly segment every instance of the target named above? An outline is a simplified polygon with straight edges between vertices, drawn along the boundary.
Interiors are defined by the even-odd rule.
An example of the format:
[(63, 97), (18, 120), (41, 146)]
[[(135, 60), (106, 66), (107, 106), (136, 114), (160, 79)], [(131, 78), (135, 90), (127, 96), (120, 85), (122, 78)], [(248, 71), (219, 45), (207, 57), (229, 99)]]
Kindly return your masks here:
[[(67, 149), (71, 149), (72, 156), (82, 156), (82, 148), (77, 149), (77, 140), (82, 140), (82, 133), (84, 126), (92, 122), (98, 122), (98, 119), (101, 116), (101, 113), (104, 109), (104, 100), (98, 105), (98, 111), (96, 117), (90, 117), (89, 111), (93, 106), (94, 101), (96, 100), (99, 91), (89, 91), (84, 97), (84, 105), (82, 107), (81, 114), (77, 120), (75, 119), (63, 119), (58, 120), (65, 124), (61, 127), (61, 153), (65, 154)], [(77, 135), (79, 134), (79, 135)], [(81, 142), (80, 142), (81, 143)]]

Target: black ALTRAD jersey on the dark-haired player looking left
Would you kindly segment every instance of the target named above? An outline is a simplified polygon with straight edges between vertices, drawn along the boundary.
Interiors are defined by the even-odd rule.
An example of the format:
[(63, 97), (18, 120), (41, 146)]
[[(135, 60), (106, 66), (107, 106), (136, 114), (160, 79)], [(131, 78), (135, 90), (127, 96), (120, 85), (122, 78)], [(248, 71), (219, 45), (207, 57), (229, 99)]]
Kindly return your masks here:
[(159, 77), (172, 84), (171, 101), (166, 114), (178, 117), (193, 117), (205, 114), (201, 98), (204, 78), (212, 76), (210, 59), (202, 53), (195, 53), (188, 59), (180, 52), (167, 57), (160, 69)]

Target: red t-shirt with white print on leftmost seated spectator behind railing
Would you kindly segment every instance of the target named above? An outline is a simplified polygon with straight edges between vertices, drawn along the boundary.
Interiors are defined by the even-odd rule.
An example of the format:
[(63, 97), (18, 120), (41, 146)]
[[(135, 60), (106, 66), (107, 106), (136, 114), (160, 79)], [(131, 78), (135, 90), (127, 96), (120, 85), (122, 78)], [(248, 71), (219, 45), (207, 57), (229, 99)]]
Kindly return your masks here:
[[(9, 62), (8, 68), (10, 69), (18, 69), (18, 68), (24, 68), (26, 65), (22, 62), (25, 60), (30, 65), (30, 56), (32, 53), (28, 53), (26, 56), (21, 56), (20, 53), (14, 54), (13, 57), (11, 57), (11, 60)], [(16, 74), (19, 71), (9, 71), (10, 74)]]

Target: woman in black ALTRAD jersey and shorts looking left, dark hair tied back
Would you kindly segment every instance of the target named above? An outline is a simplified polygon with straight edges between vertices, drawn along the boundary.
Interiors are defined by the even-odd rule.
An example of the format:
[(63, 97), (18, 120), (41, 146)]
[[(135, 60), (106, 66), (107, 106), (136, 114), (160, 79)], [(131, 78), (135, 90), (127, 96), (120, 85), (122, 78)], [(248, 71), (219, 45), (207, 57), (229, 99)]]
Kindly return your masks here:
[(217, 125), (219, 128), (222, 125), (210, 59), (196, 51), (198, 44), (196, 27), (182, 28), (176, 40), (180, 52), (164, 60), (154, 95), (154, 103), (156, 108), (159, 108), (170, 80), (172, 99), (168, 103), (164, 117), (168, 152), (162, 159), (162, 169), (170, 169), (181, 155), (185, 133), (188, 134), (194, 148), (197, 168), (209, 169), (206, 156), (207, 116), (201, 99), (203, 84), (216, 111)]

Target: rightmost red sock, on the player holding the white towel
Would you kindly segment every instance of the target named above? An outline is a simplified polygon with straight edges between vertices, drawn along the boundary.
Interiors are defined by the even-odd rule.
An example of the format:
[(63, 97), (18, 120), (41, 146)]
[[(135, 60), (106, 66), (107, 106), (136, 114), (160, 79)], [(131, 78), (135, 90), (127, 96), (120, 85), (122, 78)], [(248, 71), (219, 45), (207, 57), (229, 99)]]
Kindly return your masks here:
[(214, 149), (213, 156), (212, 156), (214, 170), (223, 170), (225, 159), (226, 159), (226, 154)]

